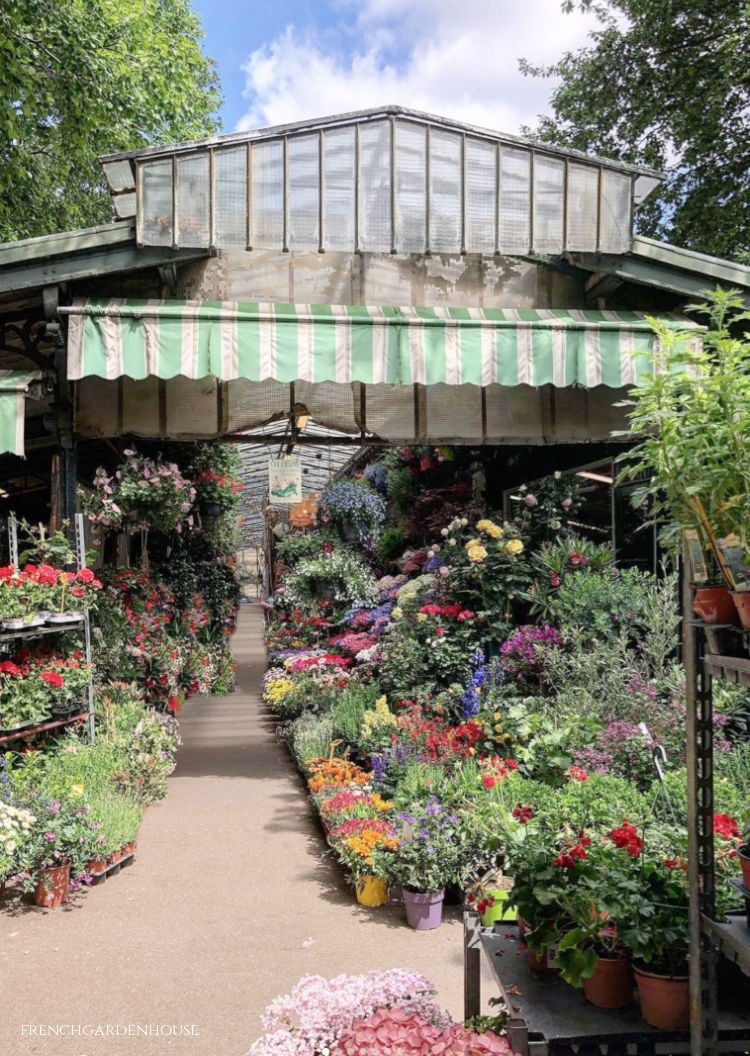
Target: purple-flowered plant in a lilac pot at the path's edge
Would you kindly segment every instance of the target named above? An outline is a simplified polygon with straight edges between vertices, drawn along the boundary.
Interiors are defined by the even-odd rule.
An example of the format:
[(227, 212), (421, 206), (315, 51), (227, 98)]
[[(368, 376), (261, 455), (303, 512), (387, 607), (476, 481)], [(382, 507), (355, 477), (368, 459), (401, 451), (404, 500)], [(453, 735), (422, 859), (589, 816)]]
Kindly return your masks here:
[(465, 870), (465, 833), (457, 813), (436, 796), (396, 815), (401, 823), (391, 875), (404, 892), (407, 921), (427, 931), (440, 926), (448, 884)]

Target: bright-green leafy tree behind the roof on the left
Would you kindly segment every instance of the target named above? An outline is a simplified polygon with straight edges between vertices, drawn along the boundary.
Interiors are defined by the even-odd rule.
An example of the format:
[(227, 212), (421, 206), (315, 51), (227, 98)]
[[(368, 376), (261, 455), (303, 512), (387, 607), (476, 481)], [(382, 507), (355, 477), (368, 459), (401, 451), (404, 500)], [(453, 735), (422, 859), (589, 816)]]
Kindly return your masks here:
[(0, 242), (106, 223), (100, 154), (219, 128), (190, 0), (0, 2)]

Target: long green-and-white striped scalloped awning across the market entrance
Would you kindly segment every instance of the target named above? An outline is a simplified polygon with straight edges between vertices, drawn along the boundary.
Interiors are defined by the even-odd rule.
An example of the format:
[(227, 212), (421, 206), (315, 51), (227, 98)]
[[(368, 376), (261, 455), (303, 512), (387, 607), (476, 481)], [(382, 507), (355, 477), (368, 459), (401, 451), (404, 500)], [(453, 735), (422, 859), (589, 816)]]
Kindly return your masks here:
[(632, 312), (155, 300), (80, 301), (63, 310), (71, 380), (618, 389), (652, 369), (656, 340), (645, 316)]

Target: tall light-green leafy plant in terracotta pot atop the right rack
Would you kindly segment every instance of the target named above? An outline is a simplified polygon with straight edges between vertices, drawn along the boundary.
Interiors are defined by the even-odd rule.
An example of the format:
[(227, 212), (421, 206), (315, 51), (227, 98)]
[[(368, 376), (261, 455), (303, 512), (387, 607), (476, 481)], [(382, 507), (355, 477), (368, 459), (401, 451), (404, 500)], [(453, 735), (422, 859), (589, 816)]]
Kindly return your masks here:
[[(716, 559), (750, 626), (750, 593), (737, 589), (750, 586), (750, 342), (729, 331), (742, 309), (736, 291), (716, 289), (708, 307), (696, 309), (710, 323), (702, 344), (694, 334), (654, 323), (654, 371), (642, 372), (624, 404), (632, 408), (624, 435), (636, 442), (620, 479), (636, 480), (633, 502), (648, 504), (665, 543), (688, 533), (704, 559), (694, 566), (710, 569)], [(701, 618), (728, 615), (724, 587), (699, 589), (715, 595), (698, 596)]]

